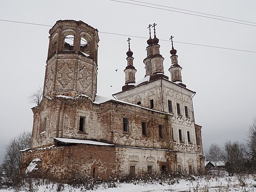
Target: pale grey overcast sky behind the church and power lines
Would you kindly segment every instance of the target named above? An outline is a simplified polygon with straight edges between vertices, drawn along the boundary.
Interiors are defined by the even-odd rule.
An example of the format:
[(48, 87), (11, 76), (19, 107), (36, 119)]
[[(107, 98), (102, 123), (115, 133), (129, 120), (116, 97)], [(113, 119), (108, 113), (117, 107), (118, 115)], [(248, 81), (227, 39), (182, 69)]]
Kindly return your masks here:
[[(202, 126), (204, 151), (211, 143), (222, 146), (226, 140), (244, 142), (256, 116), (256, 53), (253, 53), (256, 52), (256, 1), (147, 2), (179, 9), (111, 0), (5, 0), (1, 2), (0, 19), (49, 26), (58, 20), (82, 20), (98, 29), (97, 95), (108, 97), (121, 91), (125, 84), (123, 70), (127, 65), (128, 37), (131, 38), (131, 51), (137, 69), (136, 81), (144, 77), (147, 39), (133, 36), (148, 37), (148, 25), (156, 23), (160, 54), (165, 58), (165, 74), (170, 77), (171, 44), (167, 40), (173, 35), (178, 62), (183, 67), (183, 83), (196, 92), (193, 97), (195, 123)], [(238, 20), (211, 19), (208, 18), (213, 17), (210, 15), (200, 17), (192, 15), (199, 13), (180, 9), (255, 23), (243, 25), (239, 23), (245, 22)], [(12, 137), (24, 130), (32, 130), (31, 108), (34, 104), (28, 103), (27, 97), (43, 86), (50, 29), (47, 26), (0, 21), (0, 160), (4, 145)]]

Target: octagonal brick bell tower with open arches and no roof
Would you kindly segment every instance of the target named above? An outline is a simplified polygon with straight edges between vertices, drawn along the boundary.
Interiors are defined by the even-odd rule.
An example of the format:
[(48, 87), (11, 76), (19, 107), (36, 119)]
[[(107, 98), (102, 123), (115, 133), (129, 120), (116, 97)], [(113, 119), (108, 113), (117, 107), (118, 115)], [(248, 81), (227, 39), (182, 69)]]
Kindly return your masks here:
[(98, 31), (82, 21), (59, 20), (49, 33), (43, 96), (86, 95), (94, 101)]

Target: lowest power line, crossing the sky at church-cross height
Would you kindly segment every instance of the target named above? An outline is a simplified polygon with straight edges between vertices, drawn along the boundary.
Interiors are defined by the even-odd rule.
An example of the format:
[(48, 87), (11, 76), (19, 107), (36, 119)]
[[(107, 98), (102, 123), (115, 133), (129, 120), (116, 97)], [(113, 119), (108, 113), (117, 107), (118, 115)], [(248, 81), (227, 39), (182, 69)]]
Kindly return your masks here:
[[(12, 22), (12, 23), (21, 23), (21, 24), (29, 24), (29, 25), (37, 25), (37, 26), (53, 27), (53, 26), (44, 25), (44, 24), (28, 23), (28, 22), (20, 22), (20, 21), (10, 21), (10, 20), (3, 20), (3, 19), (0, 19), (0, 21)], [(99, 33), (148, 39), (148, 37), (136, 36), (136, 35), (128, 35), (128, 34), (121, 34), (121, 33), (114, 33), (114, 32), (99, 32)], [(161, 41), (168, 41), (168, 42), (170, 42), (170, 40), (166, 40), (166, 39), (160, 39), (160, 40)], [(181, 41), (173, 41), (173, 42), (182, 43), (182, 44), (188, 44), (188, 45), (195, 45), (195, 46), (211, 47), (211, 48), (217, 48), (217, 49), (227, 49), (227, 50), (233, 50), (233, 51), (243, 51), (243, 52), (249, 52), (249, 53), (256, 53), (256, 51), (248, 51), (248, 50), (242, 50), (242, 49), (232, 49), (232, 48), (218, 47), (218, 46), (212, 46), (212, 45), (187, 43), (187, 42), (181, 42)]]

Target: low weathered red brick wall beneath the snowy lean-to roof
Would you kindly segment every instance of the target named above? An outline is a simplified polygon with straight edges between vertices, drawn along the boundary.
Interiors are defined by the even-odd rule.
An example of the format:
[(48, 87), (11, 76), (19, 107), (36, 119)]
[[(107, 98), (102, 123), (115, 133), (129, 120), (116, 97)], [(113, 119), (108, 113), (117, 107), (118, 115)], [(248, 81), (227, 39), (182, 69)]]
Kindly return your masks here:
[(32, 160), (39, 158), (38, 169), (30, 174), (54, 180), (69, 180), (86, 176), (108, 179), (115, 175), (115, 147), (78, 144), (48, 147), (22, 152), (21, 172), (26, 171)]

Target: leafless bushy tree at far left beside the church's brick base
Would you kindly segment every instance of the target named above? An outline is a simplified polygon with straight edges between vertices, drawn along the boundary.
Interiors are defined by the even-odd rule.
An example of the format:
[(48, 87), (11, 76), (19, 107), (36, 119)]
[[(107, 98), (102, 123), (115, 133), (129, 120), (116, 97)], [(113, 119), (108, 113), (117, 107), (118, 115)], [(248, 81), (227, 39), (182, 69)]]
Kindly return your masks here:
[(19, 174), (21, 161), (20, 150), (30, 147), (31, 132), (24, 131), (5, 146), (2, 169), (7, 177), (13, 177)]

